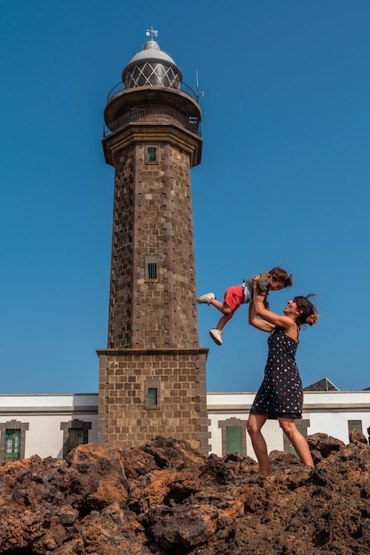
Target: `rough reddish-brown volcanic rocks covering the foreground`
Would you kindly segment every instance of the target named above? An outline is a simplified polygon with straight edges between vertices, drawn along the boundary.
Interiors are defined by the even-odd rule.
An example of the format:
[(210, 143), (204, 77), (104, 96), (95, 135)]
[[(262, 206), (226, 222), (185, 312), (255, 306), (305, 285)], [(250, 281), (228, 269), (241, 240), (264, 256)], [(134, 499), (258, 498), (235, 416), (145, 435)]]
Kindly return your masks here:
[(272, 477), (237, 454), (205, 457), (156, 438), (66, 460), (0, 466), (0, 553), (350, 555), (370, 553), (370, 446), (309, 438), (315, 468), (271, 454)]

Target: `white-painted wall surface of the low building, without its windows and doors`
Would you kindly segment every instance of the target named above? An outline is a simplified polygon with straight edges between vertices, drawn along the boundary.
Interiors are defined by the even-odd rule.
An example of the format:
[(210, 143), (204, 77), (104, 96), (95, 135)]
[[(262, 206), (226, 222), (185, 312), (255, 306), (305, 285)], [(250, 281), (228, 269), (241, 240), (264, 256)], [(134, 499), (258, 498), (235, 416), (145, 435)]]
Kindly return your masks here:
[[(228, 418), (247, 421), (256, 393), (209, 393), (209, 443), (211, 452), (222, 453), (222, 430), (218, 424)], [(308, 434), (332, 435), (349, 442), (348, 421), (361, 420), (367, 438), (370, 426), (369, 391), (304, 392), (303, 418), (310, 420)], [(0, 424), (10, 420), (28, 423), (25, 457), (63, 456), (63, 430), (60, 423), (79, 419), (91, 422), (89, 442), (98, 441), (98, 394), (0, 395)], [(256, 459), (245, 429), (247, 455)], [(268, 420), (263, 428), (269, 452), (284, 449), (283, 434), (277, 420)], [(3, 441), (3, 438), (2, 440)]]

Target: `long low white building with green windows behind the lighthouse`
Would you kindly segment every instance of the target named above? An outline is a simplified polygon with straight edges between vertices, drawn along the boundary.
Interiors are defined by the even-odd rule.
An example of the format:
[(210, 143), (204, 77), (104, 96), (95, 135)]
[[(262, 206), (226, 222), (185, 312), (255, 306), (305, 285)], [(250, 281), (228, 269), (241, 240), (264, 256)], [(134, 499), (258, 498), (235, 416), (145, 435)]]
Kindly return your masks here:
[[(223, 457), (237, 451), (256, 459), (247, 433), (255, 395), (207, 394), (210, 453)], [(323, 433), (344, 443), (352, 429), (367, 437), (370, 389), (339, 391), (329, 380), (321, 380), (304, 390), (303, 418), (296, 423), (304, 435)], [(264, 437), (269, 451), (293, 452), (277, 420), (266, 422)], [(98, 442), (98, 394), (0, 395), (0, 463), (32, 455), (66, 457), (70, 449), (87, 442)]]

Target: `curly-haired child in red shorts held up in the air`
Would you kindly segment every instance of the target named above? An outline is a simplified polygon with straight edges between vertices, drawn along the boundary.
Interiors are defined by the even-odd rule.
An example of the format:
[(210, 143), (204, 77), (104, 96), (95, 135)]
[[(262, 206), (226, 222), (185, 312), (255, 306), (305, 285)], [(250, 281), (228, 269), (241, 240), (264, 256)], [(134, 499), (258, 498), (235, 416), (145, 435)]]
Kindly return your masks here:
[[(239, 309), (240, 304), (252, 301), (254, 284), (255, 279), (253, 277), (246, 277), (241, 285), (228, 287), (224, 293), (224, 302), (216, 301), (215, 293), (206, 293), (197, 299), (197, 302), (200, 304), (213, 304), (224, 315), (216, 325), (216, 328), (209, 331), (209, 335), (217, 345), (222, 345), (222, 330), (224, 325), (233, 317), (235, 310)], [(256, 285), (259, 294), (264, 296), (264, 306), (268, 309), (267, 295), (269, 292), (279, 291), (284, 289), (284, 287), (291, 287), (293, 285), (292, 274), (288, 275), (286, 270), (276, 266), (269, 272), (260, 274)]]

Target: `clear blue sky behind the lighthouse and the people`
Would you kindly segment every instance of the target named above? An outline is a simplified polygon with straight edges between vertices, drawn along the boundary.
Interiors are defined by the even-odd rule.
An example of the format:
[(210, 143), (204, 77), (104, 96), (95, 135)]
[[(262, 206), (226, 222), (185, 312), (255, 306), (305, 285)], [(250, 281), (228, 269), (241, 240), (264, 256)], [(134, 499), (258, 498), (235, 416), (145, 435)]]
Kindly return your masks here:
[[(106, 348), (113, 168), (103, 110), (146, 29), (201, 98), (193, 168), (198, 294), (282, 265), (280, 312), (319, 293), (303, 385), (370, 387), (370, 2), (0, 0), (0, 393), (98, 391)], [(216, 347), (199, 307), (209, 391), (255, 391), (267, 334), (241, 307)]]

